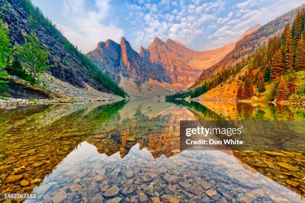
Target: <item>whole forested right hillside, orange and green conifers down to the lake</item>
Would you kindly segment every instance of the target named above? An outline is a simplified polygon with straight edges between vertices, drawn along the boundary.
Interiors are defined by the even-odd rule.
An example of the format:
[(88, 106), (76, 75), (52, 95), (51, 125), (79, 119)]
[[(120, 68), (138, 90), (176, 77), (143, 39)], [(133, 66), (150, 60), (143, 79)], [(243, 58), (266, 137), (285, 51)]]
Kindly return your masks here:
[[(201, 81), (201, 86), (167, 96), (166, 99), (195, 98), (213, 90), (218, 94), (208, 100), (225, 100), (228, 94), (221, 87), (226, 85), (234, 100), (258, 100), (302, 102), (305, 97), (305, 10), (300, 10), (293, 23), (287, 23), (284, 31), (262, 44), (256, 51), (222, 70), (216, 76)], [(232, 81), (238, 84), (233, 86)], [(201, 90), (200, 92), (198, 90)], [(211, 91), (210, 91), (211, 92)], [(213, 93), (215, 94), (215, 93)], [(203, 99), (206, 99), (203, 97)]]

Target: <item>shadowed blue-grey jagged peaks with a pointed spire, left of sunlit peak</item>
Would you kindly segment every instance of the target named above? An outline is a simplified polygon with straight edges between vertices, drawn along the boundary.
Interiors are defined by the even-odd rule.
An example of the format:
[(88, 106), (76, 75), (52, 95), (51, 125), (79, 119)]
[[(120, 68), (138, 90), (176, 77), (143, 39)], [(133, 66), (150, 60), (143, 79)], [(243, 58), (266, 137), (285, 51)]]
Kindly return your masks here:
[[(148, 53), (146, 53), (148, 54)], [(122, 37), (118, 44), (112, 40), (100, 42), (97, 48), (87, 54), (94, 63), (111, 78), (120, 83), (121, 76), (127, 79), (134, 79), (138, 86), (142, 85), (150, 78), (158, 82), (170, 82), (164, 69), (158, 65), (150, 63), (144, 56), (132, 49), (130, 43)]]

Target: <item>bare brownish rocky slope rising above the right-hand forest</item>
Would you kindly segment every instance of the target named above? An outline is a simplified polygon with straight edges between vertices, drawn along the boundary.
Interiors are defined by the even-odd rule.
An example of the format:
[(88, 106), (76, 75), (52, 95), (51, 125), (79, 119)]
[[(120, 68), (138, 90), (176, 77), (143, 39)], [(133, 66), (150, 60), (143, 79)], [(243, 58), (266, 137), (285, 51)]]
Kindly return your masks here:
[(259, 26), (255, 25), (250, 28), (245, 35), (236, 43), (234, 49), (229, 52), (222, 60), (208, 69), (204, 70), (196, 80), (195, 84), (214, 76), (218, 73), (219, 67), (228, 68), (241, 61), (243, 58), (248, 57), (249, 54), (253, 53), (255, 49), (261, 44), (266, 42), (271, 36), (274, 36), (281, 32), (286, 23), (293, 22), (296, 17), (298, 10), (305, 7), (305, 4), (293, 9), (280, 17), (270, 21), (269, 23)]

